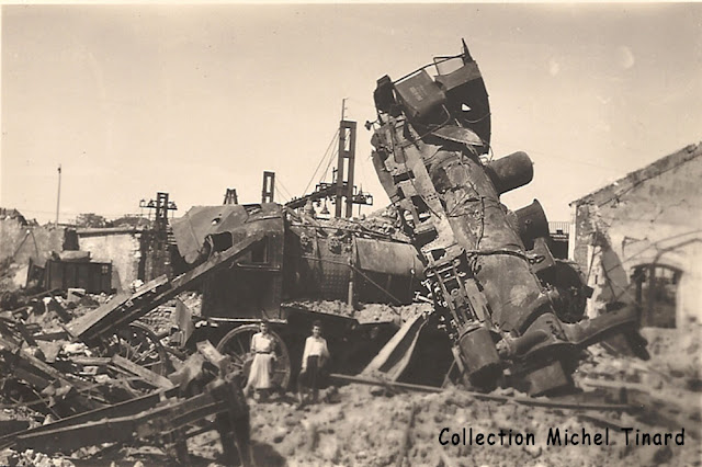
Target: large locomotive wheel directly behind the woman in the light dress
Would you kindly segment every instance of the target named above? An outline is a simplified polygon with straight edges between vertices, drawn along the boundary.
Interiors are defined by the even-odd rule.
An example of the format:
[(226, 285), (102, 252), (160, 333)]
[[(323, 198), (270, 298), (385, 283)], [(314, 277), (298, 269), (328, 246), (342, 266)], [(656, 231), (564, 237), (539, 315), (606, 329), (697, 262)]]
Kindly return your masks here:
[[(239, 372), (242, 375), (242, 384), (246, 384), (249, 378), (249, 371), (253, 362), (251, 338), (257, 332), (259, 332), (258, 324), (240, 326), (229, 331), (217, 344), (219, 353), (230, 357), (228, 373)], [(272, 375), (273, 385), (284, 390), (287, 389), (287, 385), (290, 384), (290, 353), (281, 337), (274, 331), (269, 332), (275, 341), (275, 362), (273, 364)]]

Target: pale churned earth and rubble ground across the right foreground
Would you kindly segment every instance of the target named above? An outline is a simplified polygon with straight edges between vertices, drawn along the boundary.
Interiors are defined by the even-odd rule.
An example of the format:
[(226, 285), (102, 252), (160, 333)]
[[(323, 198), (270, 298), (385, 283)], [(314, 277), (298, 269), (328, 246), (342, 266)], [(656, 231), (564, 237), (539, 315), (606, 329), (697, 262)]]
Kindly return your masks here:
[[(296, 410), (274, 401), (258, 403), (251, 426), (265, 465), (699, 465), (702, 458), (700, 389), (686, 386), (675, 361), (702, 357), (699, 328), (683, 343), (671, 342), (678, 331), (644, 329), (652, 341), (652, 360), (638, 362), (614, 355), (603, 345), (588, 350), (576, 372), (579, 387), (608, 395), (610, 403), (573, 398), (531, 398), (514, 389), (477, 395), (412, 385), (331, 387), (325, 403)], [(679, 333), (678, 333), (679, 335)], [(666, 342), (668, 342), (666, 344)], [(683, 372), (684, 373), (684, 372)], [(652, 383), (654, 375), (666, 381)], [(677, 375), (677, 377), (675, 376)], [(634, 383), (637, 381), (637, 383)], [(421, 394), (423, 392), (423, 394)], [(616, 403), (623, 399), (627, 403)], [(624, 410), (625, 407), (629, 409)], [(630, 410), (631, 409), (631, 410)], [(684, 432), (684, 445), (629, 444), (624, 428), (641, 433)], [(442, 430), (448, 429), (442, 435)], [(463, 444), (463, 430), (466, 444)], [(473, 444), (469, 441), (472, 429)], [(562, 444), (547, 444), (550, 430), (559, 429)], [(514, 435), (508, 445), (479, 445), (478, 433)], [(609, 434), (608, 444), (563, 444), (564, 433)], [(457, 433), (454, 445), (451, 435)], [(518, 444), (516, 434), (534, 434), (534, 444)], [(632, 432), (634, 433), (634, 431)], [(507, 437), (506, 437), (507, 440)], [(448, 442), (446, 444), (442, 444)]]

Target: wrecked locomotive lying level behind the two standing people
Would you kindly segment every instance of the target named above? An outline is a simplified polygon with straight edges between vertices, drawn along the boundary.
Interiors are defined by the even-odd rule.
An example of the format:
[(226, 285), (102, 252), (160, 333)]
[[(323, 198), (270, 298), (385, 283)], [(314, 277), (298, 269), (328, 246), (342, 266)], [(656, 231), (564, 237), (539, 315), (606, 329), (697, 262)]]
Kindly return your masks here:
[[(189, 269), (217, 254), (238, 257), (202, 278), (202, 315), (190, 341), (208, 339), (248, 372), (251, 335), (268, 319), (276, 341), (274, 383), (286, 388), (302, 358), (312, 322), (320, 320), (336, 367), (363, 368), (397, 329), (392, 321), (360, 323), (301, 300), (412, 301), (422, 278), (415, 248), (356, 223), (297, 215), (275, 203), (195, 206), (173, 223)], [(257, 239), (247, 243), (247, 240)], [(190, 317), (180, 319), (185, 326)]]

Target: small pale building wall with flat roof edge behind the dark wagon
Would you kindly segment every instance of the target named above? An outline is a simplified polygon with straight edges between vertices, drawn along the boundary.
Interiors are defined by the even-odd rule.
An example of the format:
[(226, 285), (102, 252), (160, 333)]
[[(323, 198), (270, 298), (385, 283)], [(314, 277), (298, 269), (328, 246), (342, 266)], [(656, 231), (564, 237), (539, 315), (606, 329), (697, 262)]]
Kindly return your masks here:
[(91, 259), (112, 262), (112, 285), (128, 291), (132, 282), (140, 278), (141, 232), (128, 228), (79, 229), (80, 250), (90, 251)]

